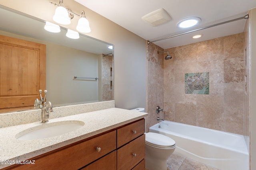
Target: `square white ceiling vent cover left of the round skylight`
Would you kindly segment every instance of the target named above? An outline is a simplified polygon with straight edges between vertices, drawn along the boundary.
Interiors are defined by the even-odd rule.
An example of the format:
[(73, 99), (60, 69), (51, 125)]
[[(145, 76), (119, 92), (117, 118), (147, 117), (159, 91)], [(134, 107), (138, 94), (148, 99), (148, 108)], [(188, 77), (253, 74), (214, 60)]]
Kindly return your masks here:
[(149, 25), (155, 27), (172, 20), (172, 17), (166, 12), (166, 10), (161, 8), (159, 10), (156, 10), (154, 12), (151, 12), (150, 14), (143, 16), (142, 20), (148, 23)]

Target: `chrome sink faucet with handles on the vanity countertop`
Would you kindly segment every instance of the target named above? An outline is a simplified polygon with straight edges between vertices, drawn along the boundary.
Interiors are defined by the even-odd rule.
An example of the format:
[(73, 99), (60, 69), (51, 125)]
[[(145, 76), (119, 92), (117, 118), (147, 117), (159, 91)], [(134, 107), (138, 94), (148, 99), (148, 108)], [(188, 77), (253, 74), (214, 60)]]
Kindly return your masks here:
[(42, 98), (42, 96), (41, 96), (42, 90), (39, 90), (39, 92), (40, 92), (40, 97), (41, 97), (40, 102), (44, 103), (44, 106), (42, 106), (42, 104), (40, 104), (42, 106), (42, 107), (40, 106), (40, 108), (42, 109), (42, 123), (46, 123), (46, 122), (48, 122), (48, 119), (49, 119), (49, 113), (53, 112), (52, 103), (51, 102), (46, 102), (47, 90), (44, 90), (44, 98)]

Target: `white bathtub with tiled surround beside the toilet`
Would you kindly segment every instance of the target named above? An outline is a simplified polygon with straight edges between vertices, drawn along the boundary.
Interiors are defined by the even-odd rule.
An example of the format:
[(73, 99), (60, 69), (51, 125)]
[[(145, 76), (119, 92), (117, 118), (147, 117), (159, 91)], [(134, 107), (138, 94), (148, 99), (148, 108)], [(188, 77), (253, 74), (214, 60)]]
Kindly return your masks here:
[(220, 170), (249, 169), (248, 150), (242, 135), (172, 121), (161, 121), (149, 131), (172, 138), (176, 154)]

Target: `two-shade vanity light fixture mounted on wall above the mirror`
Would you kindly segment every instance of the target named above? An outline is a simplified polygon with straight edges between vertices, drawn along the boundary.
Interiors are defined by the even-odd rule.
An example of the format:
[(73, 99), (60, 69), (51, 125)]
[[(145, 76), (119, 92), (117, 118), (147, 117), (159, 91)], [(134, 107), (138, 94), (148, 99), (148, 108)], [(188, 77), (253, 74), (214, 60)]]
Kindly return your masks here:
[(86, 19), (84, 11), (82, 11), (80, 15), (75, 14), (74, 12), (72, 12), (72, 10), (64, 6), (63, 0), (60, 0), (59, 4), (55, 4), (53, 2), (50, 3), (58, 6), (52, 18), (55, 22), (62, 25), (68, 25), (71, 23), (70, 20), (72, 20), (74, 16), (78, 16), (80, 17), (80, 19), (78, 20), (78, 25), (76, 26), (76, 29), (82, 33), (89, 33), (91, 31), (89, 21)]

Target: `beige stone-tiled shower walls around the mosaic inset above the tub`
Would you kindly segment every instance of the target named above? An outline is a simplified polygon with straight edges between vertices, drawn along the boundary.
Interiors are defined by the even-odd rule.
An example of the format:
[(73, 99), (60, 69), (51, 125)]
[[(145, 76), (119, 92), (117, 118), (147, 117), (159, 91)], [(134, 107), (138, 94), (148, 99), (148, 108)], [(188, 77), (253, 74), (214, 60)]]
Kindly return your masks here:
[[(169, 60), (148, 45), (148, 127), (156, 122), (153, 107), (161, 105), (166, 120), (243, 135), (243, 44), (239, 33), (164, 49)], [(185, 94), (185, 74), (196, 72), (209, 72), (209, 94)]]

